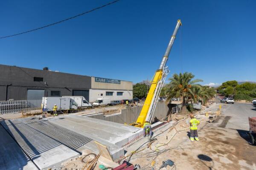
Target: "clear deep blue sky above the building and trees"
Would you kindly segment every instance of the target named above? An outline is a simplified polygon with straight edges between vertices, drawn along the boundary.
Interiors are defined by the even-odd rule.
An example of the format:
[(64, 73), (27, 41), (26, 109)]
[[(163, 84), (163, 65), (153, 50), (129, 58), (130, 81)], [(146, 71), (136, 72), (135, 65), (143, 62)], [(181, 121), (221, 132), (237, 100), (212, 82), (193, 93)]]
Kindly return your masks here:
[[(0, 37), (41, 27), (110, 0), (13, 0), (0, 6)], [(128, 80), (151, 79), (177, 19), (167, 65), (202, 84), (256, 81), (255, 0), (120, 0), (64, 23), (0, 39), (0, 64)]]

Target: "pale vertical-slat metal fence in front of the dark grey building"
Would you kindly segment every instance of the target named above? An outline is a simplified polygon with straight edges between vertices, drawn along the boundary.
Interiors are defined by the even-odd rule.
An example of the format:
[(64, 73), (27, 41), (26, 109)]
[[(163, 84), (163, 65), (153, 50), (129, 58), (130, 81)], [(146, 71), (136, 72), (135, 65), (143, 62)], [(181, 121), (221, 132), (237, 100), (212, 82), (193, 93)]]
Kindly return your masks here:
[(0, 101), (0, 114), (41, 110), (42, 100)]

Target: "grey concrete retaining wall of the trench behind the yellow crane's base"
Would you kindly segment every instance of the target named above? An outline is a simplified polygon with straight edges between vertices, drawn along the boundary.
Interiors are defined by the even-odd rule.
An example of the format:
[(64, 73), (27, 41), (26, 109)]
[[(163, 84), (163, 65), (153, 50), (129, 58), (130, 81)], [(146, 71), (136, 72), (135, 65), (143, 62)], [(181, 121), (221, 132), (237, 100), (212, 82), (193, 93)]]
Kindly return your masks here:
[[(137, 106), (134, 108), (122, 109), (121, 113), (119, 114), (104, 116), (103, 113), (98, 113), (88, 117), (106, 120), (110, 122), (121, 123), (121, 124), (124, 124), (124, 123), (130, 124), (130, 123), (136, 122), (138, 116), (140, 115), (141, 109), (142, 109), (142, 106)], [(154, 111), (154, 116), (152, 121), (154, 121), (155, 118), (156, 119), (165, 118), (171, 112), (171, 110), (172, 110), (172, 107), (170, 104), (166, 105), (165, 102), (158, 102), (156, 110)]]

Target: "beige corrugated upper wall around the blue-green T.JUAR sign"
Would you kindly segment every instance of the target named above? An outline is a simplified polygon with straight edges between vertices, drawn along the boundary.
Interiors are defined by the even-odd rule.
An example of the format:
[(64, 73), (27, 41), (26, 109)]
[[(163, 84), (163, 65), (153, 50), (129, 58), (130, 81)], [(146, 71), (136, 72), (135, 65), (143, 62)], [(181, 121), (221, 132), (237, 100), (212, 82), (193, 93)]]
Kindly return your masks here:
[(92, 89), (114, 89), (114, 90), (132, 90), (132, 82), (120, 81), (120, 84), (95, 82), (95, 77), (91, 77)]

